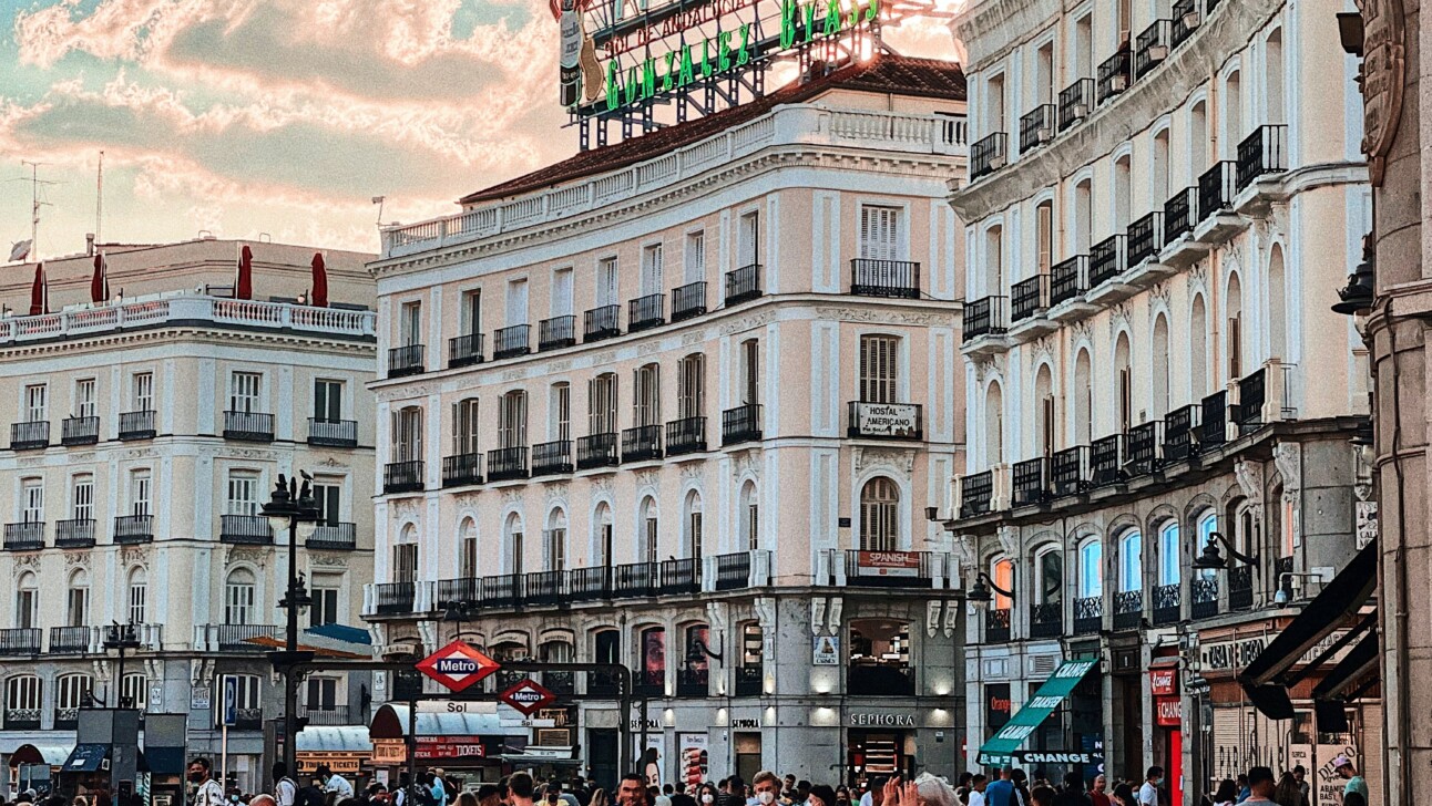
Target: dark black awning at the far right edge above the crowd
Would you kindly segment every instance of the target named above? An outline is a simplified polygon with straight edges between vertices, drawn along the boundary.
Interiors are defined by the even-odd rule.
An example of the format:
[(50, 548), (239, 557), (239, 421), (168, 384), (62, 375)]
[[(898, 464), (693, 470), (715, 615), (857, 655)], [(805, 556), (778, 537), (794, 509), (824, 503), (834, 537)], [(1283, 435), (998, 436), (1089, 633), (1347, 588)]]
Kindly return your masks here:
[(1378, 544), (1372, 543), (1363, 547), (1239, 674), (1239, 683), (1249, 701), (1269, 719), (1293, 719), (1293, 701), (1287, 696), (1287, 687), (1316, 670), (1363, 631), (1370, 630), (1372, 618), (1363, 618), (1356, 628), (1313, 659), (1296, 677), (1289, 671), (1313, 647), (1343, 626), (1349, 616), (1358, 613), (1376, 586)]

